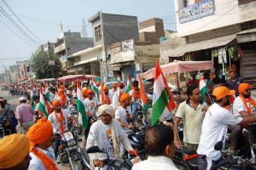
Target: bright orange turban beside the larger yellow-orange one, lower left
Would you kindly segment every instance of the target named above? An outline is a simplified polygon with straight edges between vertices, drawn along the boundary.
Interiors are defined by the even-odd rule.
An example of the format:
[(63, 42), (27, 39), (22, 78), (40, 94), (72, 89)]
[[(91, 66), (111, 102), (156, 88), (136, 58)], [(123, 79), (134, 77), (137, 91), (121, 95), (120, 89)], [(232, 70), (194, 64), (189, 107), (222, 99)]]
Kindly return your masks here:
[(30, 150), (32, 150), (35, 144), (44, 144), (52, 134), (52, 124), (43, 116), (36, 124), (30, 127), (26, 133), (27, 138), (30, 140)]

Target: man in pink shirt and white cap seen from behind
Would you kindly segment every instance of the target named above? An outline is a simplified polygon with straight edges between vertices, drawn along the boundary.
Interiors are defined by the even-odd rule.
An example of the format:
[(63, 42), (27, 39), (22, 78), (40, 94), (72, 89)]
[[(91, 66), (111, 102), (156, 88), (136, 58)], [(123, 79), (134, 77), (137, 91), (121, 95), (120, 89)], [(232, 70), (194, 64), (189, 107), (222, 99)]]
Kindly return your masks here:
[(19, 133), (26, 134), (29, 127), (32, 127), (34, 111), (32, 106), (26, 103), (25, 97), (20, 97), (20, 105), (16, 108), (16, 118), (19, 121)]

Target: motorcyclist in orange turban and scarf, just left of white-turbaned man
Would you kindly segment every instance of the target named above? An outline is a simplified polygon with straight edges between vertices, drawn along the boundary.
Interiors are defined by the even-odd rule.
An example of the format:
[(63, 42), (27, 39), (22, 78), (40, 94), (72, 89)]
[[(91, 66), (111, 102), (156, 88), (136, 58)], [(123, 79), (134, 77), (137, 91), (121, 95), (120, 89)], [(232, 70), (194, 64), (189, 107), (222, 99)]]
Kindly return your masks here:
[[(80, 127), (77, 120), (72, 116), (69, 111), (66, 109), (61, 109), (61, 102), (59, 100), (55, 100), (52, 102), (52, 106), (54, 111), (49, 115), (48, 120), (52, 123), (53, 133), (55, 135), (63, 134), (68, 130), (67, 127), (67, 118), (70, 118), (73, 124)], [(53, 149), (55, 151), (55, 157), (57, 156), (58, 147), (60, 145), (60, 140), (55, 139), (55, 143), (53, 144)]]

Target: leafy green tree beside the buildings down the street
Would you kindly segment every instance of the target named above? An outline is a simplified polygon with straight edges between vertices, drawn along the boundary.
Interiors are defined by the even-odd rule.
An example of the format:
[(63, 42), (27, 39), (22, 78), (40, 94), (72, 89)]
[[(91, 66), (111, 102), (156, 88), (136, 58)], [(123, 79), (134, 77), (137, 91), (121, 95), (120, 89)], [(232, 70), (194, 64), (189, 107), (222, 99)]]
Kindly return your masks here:
[[(54, 60), (55, 65), (49, 65), (49, 60)], [(59, 77), (61, 71), (61, 63), (57, 56), (49, 57), (49, 53), (41, 51), (38, 54), (32, 54), (31, 67), (32, 71), (36, 73), (37, 79), (52, 78), (51, 67), (53, 71), (53, 78)]]

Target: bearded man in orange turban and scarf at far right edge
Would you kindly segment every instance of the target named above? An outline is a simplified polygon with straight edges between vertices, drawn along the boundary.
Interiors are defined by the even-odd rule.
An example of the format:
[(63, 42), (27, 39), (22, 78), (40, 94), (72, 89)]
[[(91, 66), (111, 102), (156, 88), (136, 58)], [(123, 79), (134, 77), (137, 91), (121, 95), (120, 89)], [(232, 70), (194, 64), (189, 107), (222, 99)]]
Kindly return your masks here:
[[(238, 87), (239, 96), (234, 100), (233, 111), (235, 116), (248, 116), (255, 113), (256, 99), (251, 96), (251, 86), (248, 83), (241, 83)], [(244, 127), (250, 133), (250, 138), (243, 135), (247, 144), (255, 143), (255, 133), (252, 125)], [(244, 131), (242, 131), (244, 132)]]

